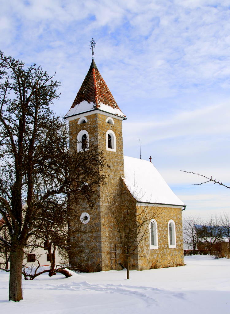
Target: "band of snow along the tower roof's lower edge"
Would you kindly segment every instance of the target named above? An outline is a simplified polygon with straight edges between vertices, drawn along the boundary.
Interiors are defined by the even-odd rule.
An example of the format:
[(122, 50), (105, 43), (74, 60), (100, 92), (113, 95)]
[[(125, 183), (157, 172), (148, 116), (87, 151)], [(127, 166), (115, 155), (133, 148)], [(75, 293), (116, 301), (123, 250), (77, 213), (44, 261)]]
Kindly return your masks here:
[(125, 118), (125, 115), (119, 108), (113, 108), (112, 106), (105, 105), (103, 103), (98, 104), (98, 108), (93, 102), (88, 102), (87, 100), (83, 100), (79, 104), (75, 105), (74, 108), (70, 108), (68, 113), (65, 115), (65, 118), (69, 116), (75, 116), (83, 112), (92, 111), (92, 110), (101, 110), (105, 112), (112, 113), (115, 116), (120, 116)]

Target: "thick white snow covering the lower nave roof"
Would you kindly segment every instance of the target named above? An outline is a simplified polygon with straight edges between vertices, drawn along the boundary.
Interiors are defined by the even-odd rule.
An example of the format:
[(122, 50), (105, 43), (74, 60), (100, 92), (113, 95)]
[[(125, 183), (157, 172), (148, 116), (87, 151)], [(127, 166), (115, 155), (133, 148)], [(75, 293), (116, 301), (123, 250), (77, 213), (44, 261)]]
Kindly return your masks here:
[(124, 175), (137, 201), (184, 206), (150, 161), (124, 156)]

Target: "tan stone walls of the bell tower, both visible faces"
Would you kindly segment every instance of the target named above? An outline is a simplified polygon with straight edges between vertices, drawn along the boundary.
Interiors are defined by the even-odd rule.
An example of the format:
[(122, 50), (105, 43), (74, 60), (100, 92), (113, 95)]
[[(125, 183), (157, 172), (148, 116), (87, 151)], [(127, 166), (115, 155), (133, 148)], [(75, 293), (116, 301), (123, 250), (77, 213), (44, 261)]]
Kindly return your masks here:
[[(114, 125), (106, 122), (107, 116), (100, 113), (92, 113), (87, 116), (87, 122), (78, 124), (79, 118), (69, 122), (70, 143), (77, 145), (77, 135), (81, 130), (89, 133), (89, 145), (96, 145), (98, 151), (103, 151), (105, 163), (109, 167), (104, 167), (106, 180), (103, 185), (98, 187), (96, 192), (96, 203), (94, 208), (90, 208), (86, 201), (78, 204), (72, 203), (73, 221), (72, 228), (79, 225), (79, 217), (83, 212), (90, 214), (90, 222), (82, 225), (84, 233), (76, 234), (72, 237), (72, 247), (83, 247), (85, 260), (82, 254), (77, 251), (71, 260), (73, 265), (78, 266), (84, 260), (82, 270), (101, 271), (111, 269), (110, 245), (114, 248), (117, 244), (117, 263), (123, 263), (119, 241), (115, 236), (111, 236), (109, 231), (109, 215), (107, 213), (108, 203), (119, 190), (120, 177), (124, 176), (123, 166), (123, 138), (122, 138), (122, 121), (113, 117)], [(116, 136), (116, 151), (106, 150), (106, 132), (112, 130)], [(98, 169), (99, 171), (99, 169)], [(109, 234), (110, 233), (110, 234)], [(111, 239), (113, 240), (111, 242)], [(84, 255), (84, 254), (83, 254)], [(118, 267), (119, 269), (119, 267)]]

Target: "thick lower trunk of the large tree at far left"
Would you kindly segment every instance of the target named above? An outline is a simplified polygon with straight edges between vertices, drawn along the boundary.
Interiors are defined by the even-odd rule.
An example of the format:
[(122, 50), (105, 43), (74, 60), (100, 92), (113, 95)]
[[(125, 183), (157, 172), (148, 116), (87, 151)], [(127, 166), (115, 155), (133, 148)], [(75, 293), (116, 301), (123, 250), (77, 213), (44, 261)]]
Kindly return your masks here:
[(12, 246), (10, 252), (9, 300), (20, 301), (22, 297), (23, 246)]

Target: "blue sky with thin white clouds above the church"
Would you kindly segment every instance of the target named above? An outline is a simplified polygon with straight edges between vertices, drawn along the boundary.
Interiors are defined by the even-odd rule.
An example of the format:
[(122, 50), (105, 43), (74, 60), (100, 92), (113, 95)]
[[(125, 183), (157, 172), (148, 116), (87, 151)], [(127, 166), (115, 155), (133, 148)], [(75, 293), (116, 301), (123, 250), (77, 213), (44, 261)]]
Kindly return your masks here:
[(70, 108), (95, 61), (123, 122), (124, 154), (153, 163), (187, 204), (184, 215), (230, 211), (230, 3), (212, 0), (0, 0), (0, 47), (62, 82), (53, 110)]

